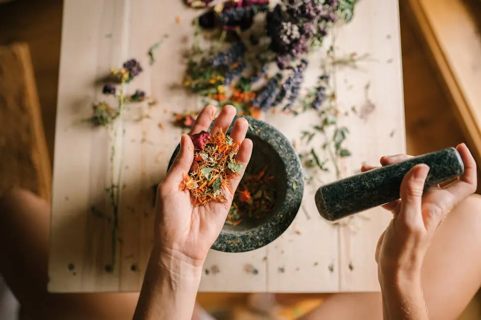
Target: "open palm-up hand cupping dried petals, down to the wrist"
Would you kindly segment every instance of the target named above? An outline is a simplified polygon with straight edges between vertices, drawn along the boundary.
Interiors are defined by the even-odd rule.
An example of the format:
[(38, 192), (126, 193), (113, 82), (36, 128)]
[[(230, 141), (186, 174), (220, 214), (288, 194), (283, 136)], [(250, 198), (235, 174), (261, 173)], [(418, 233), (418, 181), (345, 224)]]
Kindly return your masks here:
[[(220, 129), (227, 132), (235, 114), (233, 106), (225, 106), (215, 120), (211, 133), (215, 134)], [(213, 106), (204, 108), (189, 135), (208, 131), (214, 115)], [(248, 121), (239, 118), (230, 134), (234, 142), (240, 143), (236, 162), (243, 165), (242, 172), (229, 181), (233, 192), (241, 181), (252, 154), (252, 141), (245, 139), (248, 127)], [(208, 202), (195, 207), (190, 192), (179, 189), (183, 175), (189, 173), (193, 163), (194, 146), (189, 135), (182, 136), (179, 154), (167, 177), (157, 188), (154, 246), (161, 254), (199, 267), (224, 226), (233, 194), (225, 190), (227, 202)]]

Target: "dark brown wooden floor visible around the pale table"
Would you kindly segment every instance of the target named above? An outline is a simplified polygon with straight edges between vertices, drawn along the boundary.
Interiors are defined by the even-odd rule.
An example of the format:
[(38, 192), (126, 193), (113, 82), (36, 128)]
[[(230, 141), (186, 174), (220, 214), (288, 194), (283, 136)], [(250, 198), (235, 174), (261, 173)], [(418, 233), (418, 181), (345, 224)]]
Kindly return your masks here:
[[(27, 41), (30, 45), (51, 159), (61, 20), (62, 0), (21, 0), (0, 5), (0, 45), (13, 41)], [(418, 155), (462, 142), (461, 130), (436, 72), (404, 12), (401, 38), (408, 153)], [(218, 307), (245, 301), (245, 295), (212, 293), (200, 299), (206, 307)]]

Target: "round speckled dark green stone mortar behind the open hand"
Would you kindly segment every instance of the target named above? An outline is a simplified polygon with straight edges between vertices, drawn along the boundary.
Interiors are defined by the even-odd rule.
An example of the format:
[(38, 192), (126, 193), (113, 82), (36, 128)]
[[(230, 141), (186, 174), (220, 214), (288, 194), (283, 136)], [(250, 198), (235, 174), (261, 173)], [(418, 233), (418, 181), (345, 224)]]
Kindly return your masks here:
[[(304, 179), (301, 163), (294, 147), (277, 129), (266, 122), (243, 116), (249, 121), (247, 138), (253, 141), (248, 167), (263, 169), (274, 177), (276, 204), (264, 218), (245, 218), (237, 226), (224, 225), (212, 249), (223, 252), (246, 252), (264, 247), (277, 239), (291, 225), (302, 202)], [(236, 116), (234, 121), (239, 118)], [(232, 129), (233, 123), (229, 128)], [(168, 167), (179, 153), (174, 151)]]

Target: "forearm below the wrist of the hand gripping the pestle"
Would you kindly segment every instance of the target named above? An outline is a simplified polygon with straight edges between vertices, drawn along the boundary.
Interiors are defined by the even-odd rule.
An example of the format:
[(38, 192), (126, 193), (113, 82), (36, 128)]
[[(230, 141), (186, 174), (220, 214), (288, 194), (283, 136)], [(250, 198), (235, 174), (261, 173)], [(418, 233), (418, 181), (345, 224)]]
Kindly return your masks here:
[(429, 320), (418, 276), (385, 276), (381, 281), (384, 320)]

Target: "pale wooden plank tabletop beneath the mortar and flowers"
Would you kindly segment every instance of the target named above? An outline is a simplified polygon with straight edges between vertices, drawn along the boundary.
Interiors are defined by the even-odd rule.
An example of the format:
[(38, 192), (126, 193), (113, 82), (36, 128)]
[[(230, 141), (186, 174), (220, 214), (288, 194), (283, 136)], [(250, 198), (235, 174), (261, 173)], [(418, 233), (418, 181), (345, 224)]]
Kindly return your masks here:
[[(181, 54), (192, 40), (195, 10), (181, 1), (95, 0), (64, 3), (59, 96), (54, 157), (52, 241), (49, 290), (52, 292), (137, 291), (152, 244), (151, 185), (160, 181), (179, 142), (180, 129), (170, 125), (171, 112), (200, 107), (195, 96), (177, 87), (185, 61)], [(179, 17), (180, 23), (176, 22)], [(168, 33), (148, 66), (146, 52)], [(336, 56), (368, 53), (368, 62), (353, 69), (336, 66), (334, 85), (341, 110), (375, 106), (366, 118), (342, 118), (351, 134), (352, 156), (340, 163), (342, 176), (362, 163), (378, 163), (382, 155), (405, 152), (399, 9), (396, 0), (362, 0), (354, 20), (334, 32)], [(329, 41), (333, 41), (332, 39)], [(329, 42), (326, 41), (326, 42)], [(326, 47), (331, 43), (325, 43)], [(129, 58), (144, 72), (129, 90), (141, 88), (158, 105), (151, 119), (136, 122), (128, 114), (120, 135), (122, 155), (118, 267), (111, 261), (111, 225), (91, 212), (108, 208), (105, 186), (110, 179), (108, 136), (81, 119), (91, 116), (94, 101), (104, 99), (98, 80)], [(312, 59), (321, 58), (318, 56)], [(315, 68), (306, 82), (318, 75)], [(366, 89), (367, 88), (367, 89)], [(147, 108), (147, 106), (144, 106)], [(168, 113), (164, 112), (168, 110)], [(368, 108), (369, 109), (369, 108)], [(263, 114), (290, 140), (315, 124), (317, 117)], [(159, 129), (162, 121), (165, 130)], [(321, 144), (314, 140), (314, 144)], [(308, 148), (299, 145), (298, 149)], [(310, 146), (309, 146), (310, 148)], [(323, 174), (322, 181), (335, 179)], [(377, 291), (376, 242), (390, 214), (376, 208), (356, 216), (347, 226), (322, 220), (314, 204), (319, 183), (306, 185), (303, 210), (290, 228), (266, 247), (247, 253), (210, 252), (201, 291), (338, 292)], [(255, 267), (258, 272), (251, 272)]]

